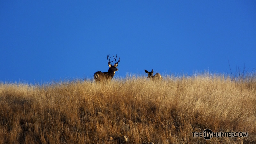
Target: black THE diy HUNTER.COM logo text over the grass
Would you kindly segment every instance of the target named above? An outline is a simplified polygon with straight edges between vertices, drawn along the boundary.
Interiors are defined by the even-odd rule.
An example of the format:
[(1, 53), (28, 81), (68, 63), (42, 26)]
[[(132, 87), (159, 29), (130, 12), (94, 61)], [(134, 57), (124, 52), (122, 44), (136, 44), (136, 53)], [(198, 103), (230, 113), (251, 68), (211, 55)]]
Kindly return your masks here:
[(212, 137), (248, 137), (247, 132), (212, 132), (210, 129), (206, 129), (203, 132), (192, 132), (193, 137), (204, 137), (206, 140), (210, 140)]

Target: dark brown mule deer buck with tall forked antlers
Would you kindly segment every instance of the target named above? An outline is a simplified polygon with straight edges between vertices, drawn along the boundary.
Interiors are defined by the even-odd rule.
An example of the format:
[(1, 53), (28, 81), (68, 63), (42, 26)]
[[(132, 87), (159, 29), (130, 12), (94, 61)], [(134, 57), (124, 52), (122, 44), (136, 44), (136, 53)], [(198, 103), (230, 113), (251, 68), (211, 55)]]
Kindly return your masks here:
[[(120, 57), (118, 62), (116, 62), (114, 65), (110, 64), (113, 61), (110, 61), (111, 57), (109, 59), (108, 57), (109, 55), (107, 56), (108, 66), (109, 66), (108, 72), (97, 71), (96, 73), (94, 73), (93, 77), (96, 82), (109, 81), (114, 77), (115, 72), (118, 71), (116, 67), (118, 66), (118, 62), (120, 62)], [(116, 58), (117, 58), (117, 55), (116, 55)], [(115, 61), (116, 61), (116, 58), (114, 57)]]

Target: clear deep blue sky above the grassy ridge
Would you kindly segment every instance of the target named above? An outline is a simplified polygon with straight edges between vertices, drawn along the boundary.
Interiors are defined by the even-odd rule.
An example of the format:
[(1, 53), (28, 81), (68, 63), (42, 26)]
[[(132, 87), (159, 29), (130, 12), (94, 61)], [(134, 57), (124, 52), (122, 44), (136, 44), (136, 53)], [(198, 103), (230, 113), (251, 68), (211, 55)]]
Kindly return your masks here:
[(256, 68), (256, 1), (1, 0), (0, 27), (0, 82)]

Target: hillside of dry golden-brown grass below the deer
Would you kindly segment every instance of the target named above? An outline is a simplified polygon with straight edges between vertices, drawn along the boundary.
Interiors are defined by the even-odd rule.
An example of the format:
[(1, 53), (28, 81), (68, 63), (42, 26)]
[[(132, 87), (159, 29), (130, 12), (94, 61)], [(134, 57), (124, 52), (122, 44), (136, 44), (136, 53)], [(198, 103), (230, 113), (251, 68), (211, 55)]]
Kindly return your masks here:
[[(192, 136), (204, 129), (248, 137)], [(0, 84), (0, 143), (125, 143), (124, 136), (127, 143), (256, 143), (256, 78)]]

